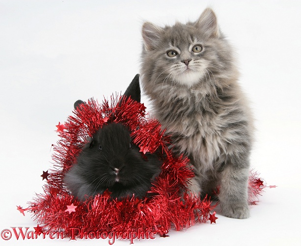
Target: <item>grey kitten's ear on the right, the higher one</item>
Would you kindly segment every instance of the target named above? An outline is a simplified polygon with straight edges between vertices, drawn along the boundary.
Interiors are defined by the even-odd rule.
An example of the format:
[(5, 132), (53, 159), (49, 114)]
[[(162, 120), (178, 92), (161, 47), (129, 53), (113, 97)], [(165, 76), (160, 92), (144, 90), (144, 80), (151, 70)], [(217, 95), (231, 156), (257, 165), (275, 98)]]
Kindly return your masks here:
[(208, 37), (218, 38), (220, 35), (218, 18), (211, 8), (206, 8), (203, 11), (195, 25)]

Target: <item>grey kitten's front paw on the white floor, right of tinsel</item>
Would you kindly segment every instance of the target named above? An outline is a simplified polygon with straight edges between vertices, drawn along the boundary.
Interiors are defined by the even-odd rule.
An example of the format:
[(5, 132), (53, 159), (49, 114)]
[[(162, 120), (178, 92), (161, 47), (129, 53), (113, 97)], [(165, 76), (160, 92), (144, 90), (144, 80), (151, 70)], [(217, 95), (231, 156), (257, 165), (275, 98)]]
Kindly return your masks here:
[(247, 204), (243, 205), (226, 205), (220, 204), (221, 213), (223, 216), (234, 219), (246, 219), (250, 217), (250, 209)]

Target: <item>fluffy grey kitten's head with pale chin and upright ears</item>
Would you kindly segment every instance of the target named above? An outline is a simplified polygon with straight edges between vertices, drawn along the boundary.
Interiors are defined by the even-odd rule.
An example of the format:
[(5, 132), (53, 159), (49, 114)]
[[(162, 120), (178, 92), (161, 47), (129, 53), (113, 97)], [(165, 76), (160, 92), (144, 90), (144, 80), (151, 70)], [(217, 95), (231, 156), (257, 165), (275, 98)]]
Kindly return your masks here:
[(146, 91), (158, 86), (161, 90), (174, 85), (219, 86), (219, 78), (232, 76), (235, 70), (231, 48), (210, 8), (194, 23), (158, 27), (146, 22), (142, 37), (141, 74)]

